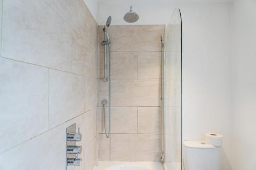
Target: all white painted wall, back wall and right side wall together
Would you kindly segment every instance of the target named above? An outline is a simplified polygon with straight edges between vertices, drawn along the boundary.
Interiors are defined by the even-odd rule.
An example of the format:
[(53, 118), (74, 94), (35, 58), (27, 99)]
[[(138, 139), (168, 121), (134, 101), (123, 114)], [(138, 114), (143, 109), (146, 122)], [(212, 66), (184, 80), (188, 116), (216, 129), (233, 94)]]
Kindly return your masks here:
[(103, 25), (109, 15), (113, 18), (112, 25), (131, 25), (123, 21), (130, 5), (140, 16), (135, 25), (166, 24), (174, 8), (181, 9), (184, 139), (203, 138), (205, 131), (222, 133), (222, 168), (230, 169), (232, 157), (234, 169), (255, 169), (256, 137), (251, 134), (256, 131), (253, 114), (256, 109), (256, 1), (235, 0), (232, 9), (229, 3), (223, 2), (129, 2), (101, 0), (99, 25)]

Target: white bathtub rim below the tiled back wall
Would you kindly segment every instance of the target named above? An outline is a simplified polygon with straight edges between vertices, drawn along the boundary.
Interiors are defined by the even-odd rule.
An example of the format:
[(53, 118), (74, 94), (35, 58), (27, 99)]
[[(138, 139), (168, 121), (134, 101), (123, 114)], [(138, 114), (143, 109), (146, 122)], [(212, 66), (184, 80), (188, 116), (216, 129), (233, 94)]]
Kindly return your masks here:
[(99, 161), (94, 170), (164, 170), (160, 162)]

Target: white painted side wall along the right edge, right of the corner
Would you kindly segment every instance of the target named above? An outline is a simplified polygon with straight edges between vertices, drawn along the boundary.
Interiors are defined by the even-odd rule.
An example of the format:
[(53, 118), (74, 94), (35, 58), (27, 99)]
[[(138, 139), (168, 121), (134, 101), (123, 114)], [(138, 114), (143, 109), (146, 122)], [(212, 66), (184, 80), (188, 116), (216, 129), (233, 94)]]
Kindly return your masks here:
[(233, 4), (233, 164), (256, 169), (256, 1)]

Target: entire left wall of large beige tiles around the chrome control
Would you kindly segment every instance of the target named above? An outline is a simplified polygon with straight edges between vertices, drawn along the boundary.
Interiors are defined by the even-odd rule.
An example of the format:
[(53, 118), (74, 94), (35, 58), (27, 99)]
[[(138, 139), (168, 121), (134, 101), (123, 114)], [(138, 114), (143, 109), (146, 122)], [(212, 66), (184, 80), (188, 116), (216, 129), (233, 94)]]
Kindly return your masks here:
[(65, 169), (66, 128), (76, 123), (83, 151), (75, 169), (92, 170), (97, 22), (82, 0), (0, 3), (0, 169)]

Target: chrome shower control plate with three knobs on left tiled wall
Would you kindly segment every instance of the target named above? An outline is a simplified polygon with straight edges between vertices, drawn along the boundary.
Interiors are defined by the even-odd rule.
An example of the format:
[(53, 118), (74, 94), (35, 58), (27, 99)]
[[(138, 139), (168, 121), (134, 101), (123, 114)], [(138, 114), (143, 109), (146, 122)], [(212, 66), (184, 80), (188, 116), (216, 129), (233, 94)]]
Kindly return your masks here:
[(76, 133), (76, 124), (66, 129), (66, 170), (69, 170), (70, 166), (80, 166), (82, 159), (79, 158), (79, 154), (82, 152), (82, 147), (77, 146), (76, 141), (81, 141), (81, 139), (79, 128)]

